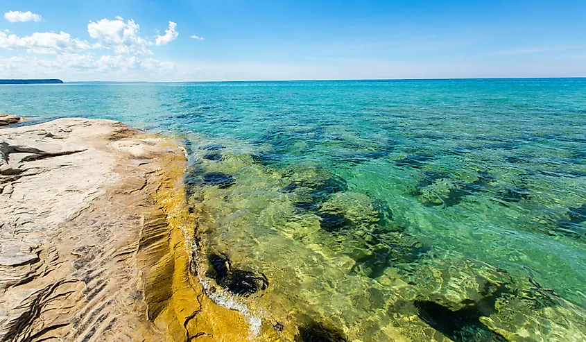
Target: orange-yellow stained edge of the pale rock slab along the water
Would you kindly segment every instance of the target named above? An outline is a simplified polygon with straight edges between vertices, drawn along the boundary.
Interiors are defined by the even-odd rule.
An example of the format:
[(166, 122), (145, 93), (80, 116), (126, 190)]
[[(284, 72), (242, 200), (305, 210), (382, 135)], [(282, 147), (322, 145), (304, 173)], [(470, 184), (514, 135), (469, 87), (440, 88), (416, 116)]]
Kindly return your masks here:
[[(210, 300), (196, 277), (186, 241), (196, 230), (182, 183), (185, 160), (169, 158), (153, 198), (160, 212), (146, 219), (139, 243), (148, 318), (172, 341), (249, 341), (238, 311)], [(155, 341), (155, 340), (153, 340)]]

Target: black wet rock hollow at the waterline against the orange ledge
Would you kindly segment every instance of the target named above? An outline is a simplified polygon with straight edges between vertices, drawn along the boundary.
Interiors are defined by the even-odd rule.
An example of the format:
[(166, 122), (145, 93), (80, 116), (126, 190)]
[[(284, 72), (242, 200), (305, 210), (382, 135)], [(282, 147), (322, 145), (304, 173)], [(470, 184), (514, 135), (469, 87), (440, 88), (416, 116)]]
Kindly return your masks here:
[(212, 254), (208, 256), (210, 270), (207, 277), (216, 280), (216, 283), (236, 296), (250, 296), (260, 290), (266, 289), (268, 280), (250, 271), (233, 269), (230, 259), (222, 255)]

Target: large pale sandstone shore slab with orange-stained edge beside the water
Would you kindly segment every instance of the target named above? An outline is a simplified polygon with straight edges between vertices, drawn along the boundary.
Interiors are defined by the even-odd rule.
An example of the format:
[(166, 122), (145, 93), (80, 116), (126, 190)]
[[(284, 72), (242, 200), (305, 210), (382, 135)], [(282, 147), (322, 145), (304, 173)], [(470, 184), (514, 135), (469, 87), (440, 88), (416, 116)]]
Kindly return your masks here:
[(117, 121), (0, 130), (0, 341), (245, 341), (205, 296), (186, 159)]

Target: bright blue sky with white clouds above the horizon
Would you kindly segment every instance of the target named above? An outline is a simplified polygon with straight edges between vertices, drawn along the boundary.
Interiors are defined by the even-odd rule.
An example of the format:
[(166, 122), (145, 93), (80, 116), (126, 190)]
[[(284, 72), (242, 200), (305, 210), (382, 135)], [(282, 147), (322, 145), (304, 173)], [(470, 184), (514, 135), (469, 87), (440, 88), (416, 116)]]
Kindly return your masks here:
[(0, 12), (0, 78), (586, 76), (583, 0), (3, 0)]

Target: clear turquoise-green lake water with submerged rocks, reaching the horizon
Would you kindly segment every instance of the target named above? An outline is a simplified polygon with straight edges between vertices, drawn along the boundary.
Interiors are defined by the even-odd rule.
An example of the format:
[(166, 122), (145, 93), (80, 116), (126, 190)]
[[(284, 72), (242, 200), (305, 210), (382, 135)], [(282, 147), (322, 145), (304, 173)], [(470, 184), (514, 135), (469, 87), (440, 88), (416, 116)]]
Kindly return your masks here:
[(202, 267), (286, 339), (586, 338), (585, 79), (3, 86), (0, 112), (184, 137)]

